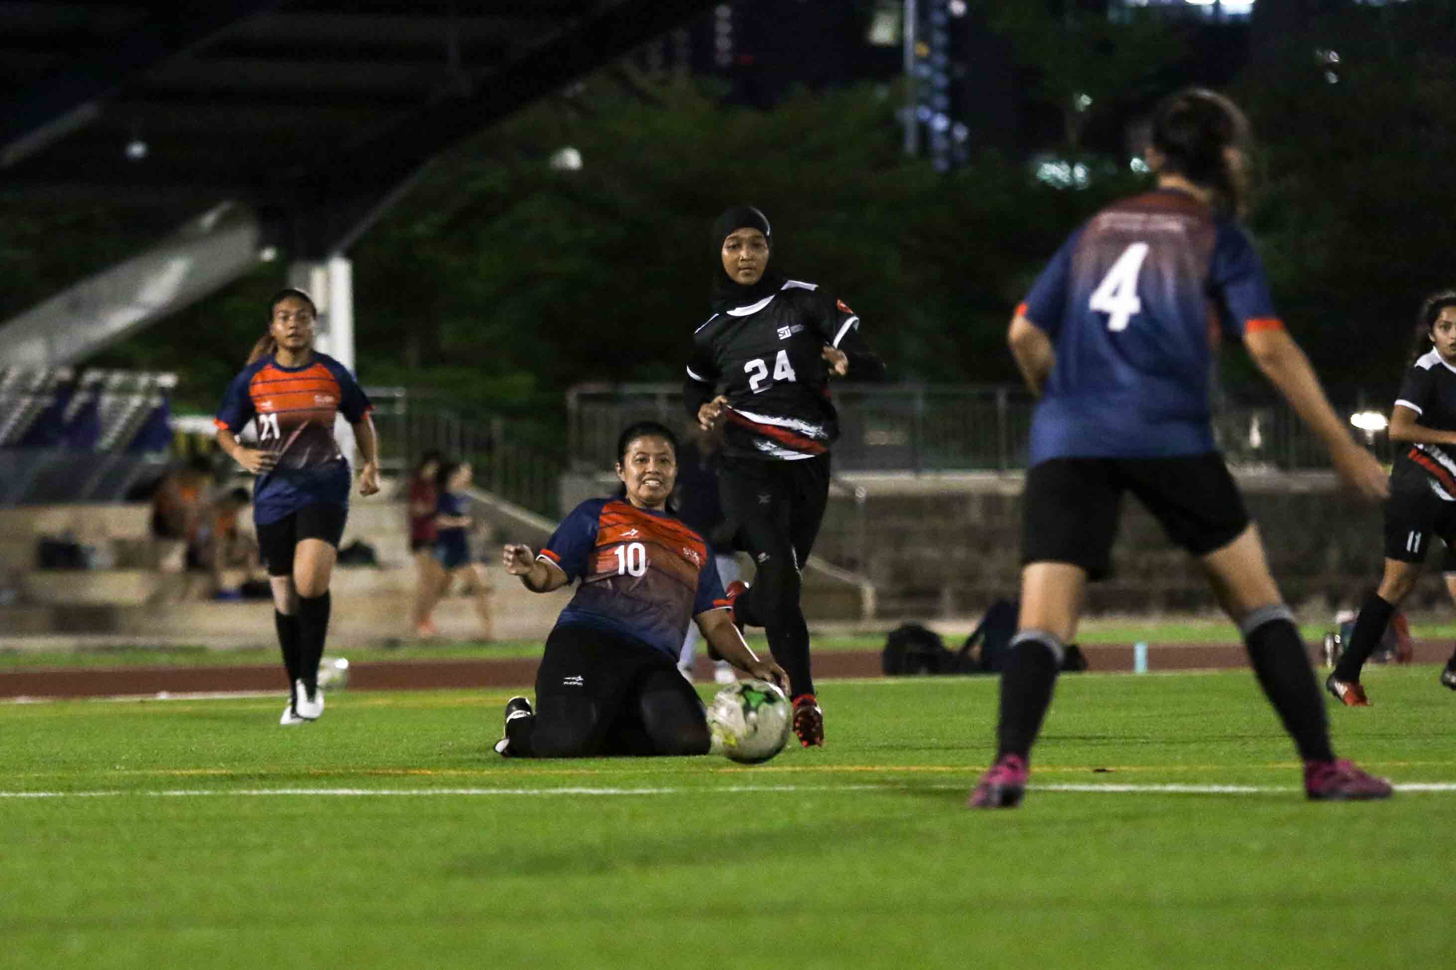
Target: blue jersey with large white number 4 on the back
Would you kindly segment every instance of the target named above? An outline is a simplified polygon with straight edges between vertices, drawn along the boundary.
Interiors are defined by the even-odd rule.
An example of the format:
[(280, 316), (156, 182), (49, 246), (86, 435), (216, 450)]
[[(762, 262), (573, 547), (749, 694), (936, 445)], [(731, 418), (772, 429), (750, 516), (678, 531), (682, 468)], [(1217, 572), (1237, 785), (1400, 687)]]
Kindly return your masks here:
[(1032, 465), (1214, 451), (1214, 346), (1283, 326), (1245, 231), (1169, 189), (1092, 217), (1018, 310), (1057, 352), (1032, 419)]

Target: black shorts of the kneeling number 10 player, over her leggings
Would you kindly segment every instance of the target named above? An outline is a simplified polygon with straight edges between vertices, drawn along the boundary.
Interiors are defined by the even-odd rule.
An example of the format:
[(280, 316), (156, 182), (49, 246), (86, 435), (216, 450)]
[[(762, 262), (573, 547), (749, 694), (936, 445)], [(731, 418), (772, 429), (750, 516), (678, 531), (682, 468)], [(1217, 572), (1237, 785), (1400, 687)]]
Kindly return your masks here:
[(536, 697), (591, 698), (606, 726), (633, 686), (660, 669), (671, 670), (684, 695), (702, 704), (693, 685), (677, 672), (676, 657), (606, 630), (568, 624), (546, 637), (546, 652), (536, 669)]

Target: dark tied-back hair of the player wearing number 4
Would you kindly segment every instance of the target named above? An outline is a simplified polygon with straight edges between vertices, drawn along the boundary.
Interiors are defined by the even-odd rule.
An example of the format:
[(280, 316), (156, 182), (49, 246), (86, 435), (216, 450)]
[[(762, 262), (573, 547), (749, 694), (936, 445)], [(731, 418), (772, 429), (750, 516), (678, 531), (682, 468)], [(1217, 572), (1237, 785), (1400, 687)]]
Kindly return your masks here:
[(1243, 211), (1246, 177), (1226, 154), (1227, 148), (1246, 150), (1249, 143), (1249, 122), (1238, 105), (1203, 87), (1174, 92), (1153, 111), (1152, 137), (1163, 156), (1160, 172), (1208, 188), (1217, 208)]

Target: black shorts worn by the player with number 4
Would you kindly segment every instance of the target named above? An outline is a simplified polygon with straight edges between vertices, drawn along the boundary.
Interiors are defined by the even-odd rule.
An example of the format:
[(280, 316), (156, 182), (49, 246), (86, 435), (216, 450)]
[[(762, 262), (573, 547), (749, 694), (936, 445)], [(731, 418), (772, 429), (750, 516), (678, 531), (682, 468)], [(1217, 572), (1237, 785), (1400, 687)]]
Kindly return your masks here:
[(1021, 561), (1072, 563), (1096, 582), (1112, 574), (1123, 493), (1137, 496), (1168, 538), (1192, 556), (1220, 550), (1249, 525), (1223, 457), (1053, 458), (1026, 473)]

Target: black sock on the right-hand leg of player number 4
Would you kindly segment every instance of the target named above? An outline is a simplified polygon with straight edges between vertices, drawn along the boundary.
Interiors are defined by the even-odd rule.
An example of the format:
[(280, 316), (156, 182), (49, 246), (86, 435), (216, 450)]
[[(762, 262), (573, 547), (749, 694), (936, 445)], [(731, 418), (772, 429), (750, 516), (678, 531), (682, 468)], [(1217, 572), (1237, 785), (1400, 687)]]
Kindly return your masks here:
[(1243, 643), (1264, 695), (1305, 761), (1334, 761), (1325, 698), (1319, 697), (1299, 628), (1286, 606), (1265, 606), (1243, 621)]

